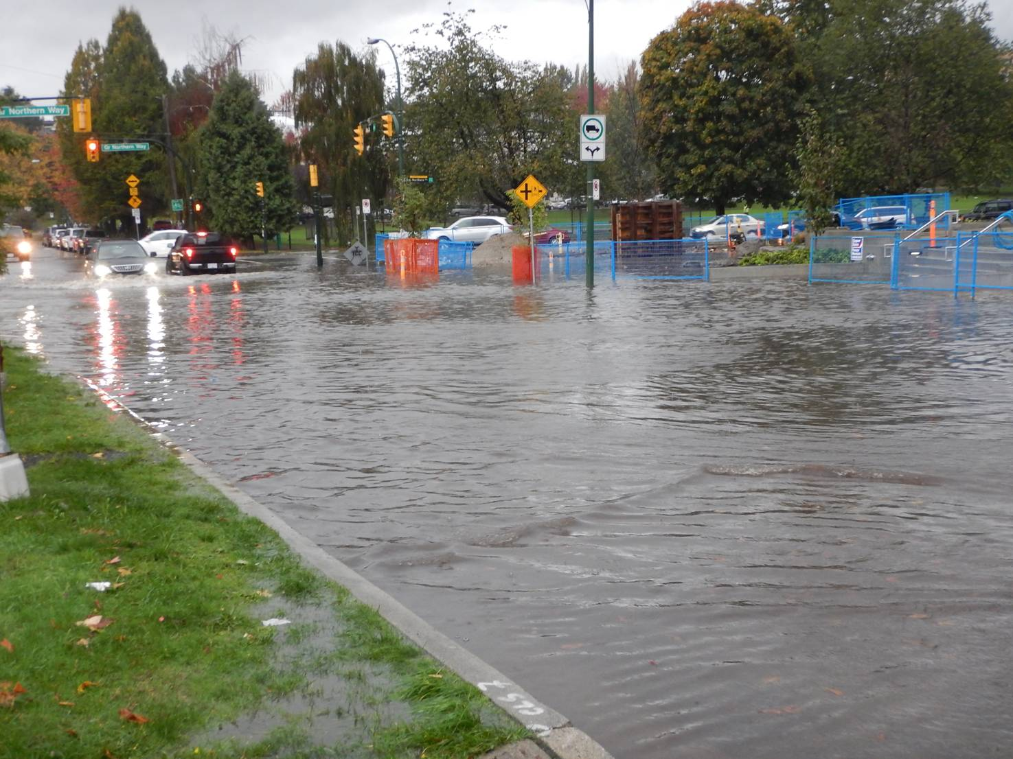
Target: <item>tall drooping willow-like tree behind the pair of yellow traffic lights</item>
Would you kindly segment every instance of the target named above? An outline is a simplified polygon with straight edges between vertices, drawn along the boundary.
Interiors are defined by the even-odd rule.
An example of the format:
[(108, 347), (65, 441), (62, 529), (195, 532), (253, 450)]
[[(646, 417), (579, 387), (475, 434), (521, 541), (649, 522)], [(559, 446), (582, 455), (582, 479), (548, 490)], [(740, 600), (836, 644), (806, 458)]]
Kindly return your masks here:
[[(390, 181), (389, 161), (379, 133), (367, 132), (366, 153), (358, 155), (353, 130), (384, 109), (384, 76), (371, 51), (357, 56), (343, 43), (321, 43), (315, 56), (293, 74), (292, 99), (303, 156), (315, 163), (321, 187), (330, 187), (334, 208), (359, 204), (363, 197), (383, 198)], [(335, 213), (338, 237), (352, 231), (344, 214)]]

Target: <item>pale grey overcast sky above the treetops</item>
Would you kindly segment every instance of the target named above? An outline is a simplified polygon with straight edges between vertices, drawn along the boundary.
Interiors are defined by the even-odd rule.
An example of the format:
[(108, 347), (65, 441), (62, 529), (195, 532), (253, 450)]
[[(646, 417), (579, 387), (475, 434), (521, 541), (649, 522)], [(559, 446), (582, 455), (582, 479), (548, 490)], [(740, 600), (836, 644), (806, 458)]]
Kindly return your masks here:
[[(1013, 0), (988, 0), (993, 25), (1003, 39), (1013, 39)], [(116, 8), (128, 4), (93, 0), (43, 0), (42, 6), (6, 0), (0, 43), (0, 86), (26, 96), (58, 94), (80, 40), (104, 45)], [(657, 32), (670, 27), (690, 0), (598, 0), (595, 6), (595, 70), (599, 79), (615, 79)], [(272, 83), (271, 100), (292, 87), (293, 69), (322, 40), (340, 39), (353, 49), (379, 36), (395, 49), (418, 38), (411, 31), (439, 22), (446, 0), (136, 0), (171, 76), (192, 60), (202, 28), (246, 38), (243, 68)], [(11, 7), (13, 6), (13, 7)], [(588, 12), (585, 0), (457, 0), (453, 9), (474, 8), (471, 26), (506, 24), (493, 44), (504, 58), (569, 68), (588, 61)], [(390, 52), (380, 46), (378, 63), (394, 84)], [(399, 51), (399, 56), (400, 56)]]

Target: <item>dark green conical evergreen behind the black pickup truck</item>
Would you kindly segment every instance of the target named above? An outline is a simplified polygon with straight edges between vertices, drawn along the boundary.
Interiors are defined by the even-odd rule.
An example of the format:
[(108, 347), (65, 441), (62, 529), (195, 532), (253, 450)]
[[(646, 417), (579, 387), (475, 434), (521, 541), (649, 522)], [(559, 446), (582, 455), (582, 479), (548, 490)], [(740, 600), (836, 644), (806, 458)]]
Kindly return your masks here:
[[(201, 130), (198, 166), (215, 230), (248, 239), (264, 220), (267, 237), (291, 229), (298, 206), (282, 133), (238, 71), (226, 78)], [(262, 198), (257, 182), (263, 182)]]

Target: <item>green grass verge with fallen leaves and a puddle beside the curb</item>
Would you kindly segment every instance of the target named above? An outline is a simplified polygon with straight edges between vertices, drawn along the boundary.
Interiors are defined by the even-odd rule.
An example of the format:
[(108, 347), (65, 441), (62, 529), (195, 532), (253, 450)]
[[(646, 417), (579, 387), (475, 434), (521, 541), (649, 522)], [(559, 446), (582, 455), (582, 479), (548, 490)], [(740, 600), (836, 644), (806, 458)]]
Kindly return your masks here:
[(136, 425), (6, 358), (31, 495), (0, 503), (0, 756), (449, 759), (525, 734)]

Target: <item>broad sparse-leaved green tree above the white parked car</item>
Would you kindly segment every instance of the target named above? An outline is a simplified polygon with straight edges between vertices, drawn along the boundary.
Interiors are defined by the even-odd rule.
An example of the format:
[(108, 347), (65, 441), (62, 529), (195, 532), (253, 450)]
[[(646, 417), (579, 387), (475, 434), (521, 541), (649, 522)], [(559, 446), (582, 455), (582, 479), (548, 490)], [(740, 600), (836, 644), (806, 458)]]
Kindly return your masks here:
[(437, 177), (437, 202), (480, 196), (505, 208), (529, 173), (564, 186), (575, 123), (558, 70), (504, 61), (461, 14), (423, 30), (442, 41), (407, 49), (405, 118), (411, 165)]

